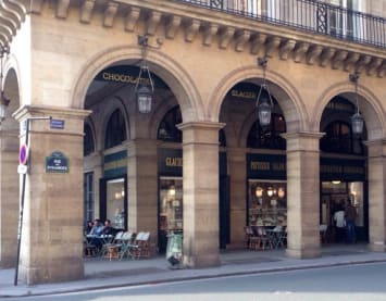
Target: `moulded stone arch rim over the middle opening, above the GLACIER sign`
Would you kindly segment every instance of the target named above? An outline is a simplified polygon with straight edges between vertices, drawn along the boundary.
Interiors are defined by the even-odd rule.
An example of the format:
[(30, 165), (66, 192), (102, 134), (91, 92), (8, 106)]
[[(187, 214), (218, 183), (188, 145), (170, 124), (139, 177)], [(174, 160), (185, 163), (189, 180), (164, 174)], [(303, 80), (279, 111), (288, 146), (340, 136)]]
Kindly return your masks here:
[[(211, 102), (208, 110), (213, 112), (211, 120), (219, 120), (222, 102), (234, 85), (250, 79), (261, 85), (262, 78), (262, 70), (256, 66), (245, 66), (231, 71), (219, 81), (219, 85), (210, 98)], [(308, 128), (309, 117), (298, 90), (290, 85), (288, 79), (274, 71), (266, 70), (265, 78), (269, 81), (270, 92), (276, 98), (286, 118), (287, 131), (306, 130)]]

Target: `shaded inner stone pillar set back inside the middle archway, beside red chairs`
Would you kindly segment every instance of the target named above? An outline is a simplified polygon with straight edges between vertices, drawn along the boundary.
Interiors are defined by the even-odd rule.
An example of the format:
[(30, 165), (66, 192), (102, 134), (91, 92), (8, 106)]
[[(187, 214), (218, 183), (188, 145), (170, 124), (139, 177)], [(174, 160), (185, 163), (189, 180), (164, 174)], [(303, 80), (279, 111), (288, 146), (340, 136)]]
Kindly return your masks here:
[(242, 248), (247, 210), (247, 156), (245, 149), (227, 149), (231, 175), (231, 246)]

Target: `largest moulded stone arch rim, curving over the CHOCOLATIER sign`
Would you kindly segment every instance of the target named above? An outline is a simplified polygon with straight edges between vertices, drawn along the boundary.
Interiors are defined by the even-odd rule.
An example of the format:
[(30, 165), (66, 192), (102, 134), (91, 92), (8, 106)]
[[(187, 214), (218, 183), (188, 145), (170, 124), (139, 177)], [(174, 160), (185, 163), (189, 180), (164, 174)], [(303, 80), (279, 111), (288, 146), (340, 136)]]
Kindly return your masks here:
[[(101, 70), (116, 62), (135, 63), (140, 59), (141, 52), (138, 47), (114, 47), (94, 55), (85, 63), (79, 75), (74, 78), (71, 91), (72, 108), (84, 108), (87, 89)], [(159, 49), (148, 49), (147, 62), (151, 72), (160, 76), (175, 95), (182, 108), (184, 121), (204, 120), (201, 96), (184, 67)]]

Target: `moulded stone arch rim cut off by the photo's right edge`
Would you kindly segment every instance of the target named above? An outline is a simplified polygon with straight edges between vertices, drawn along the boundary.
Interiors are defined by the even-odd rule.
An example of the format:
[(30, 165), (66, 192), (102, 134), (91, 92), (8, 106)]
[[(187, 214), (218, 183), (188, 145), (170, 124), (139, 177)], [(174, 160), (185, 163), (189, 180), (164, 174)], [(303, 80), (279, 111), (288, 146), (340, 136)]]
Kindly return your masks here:
[[(343, 96), (356, 104), (354, 91), (351, 83), (337, 83), (327, 87), (316, 100), (316, 105), (312, 112), (312, 122), (310, 123), (311, 129), (315, 131), (320, 130), (324, 108), (336, 96)], [(382, 109), (381, 100), (366, 87), (359, 84), (358, 102), (366, 125), (368, 139), (374, 140), (385, 137), (385, 111)]]

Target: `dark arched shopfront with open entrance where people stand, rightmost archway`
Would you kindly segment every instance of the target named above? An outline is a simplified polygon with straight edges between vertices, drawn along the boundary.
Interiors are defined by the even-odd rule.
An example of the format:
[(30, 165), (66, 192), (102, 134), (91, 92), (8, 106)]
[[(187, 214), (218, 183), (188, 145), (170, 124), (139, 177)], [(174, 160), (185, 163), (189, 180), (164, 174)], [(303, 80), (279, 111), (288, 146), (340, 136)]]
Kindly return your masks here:
[(366, 128), (361, 135), (351, 130), (356, 106), (345, 97), (333, 98), (322, 114), (320, 223), (327, 230), (322, 242), (347, 241), (339, 211), (352, 203), (357, 211), (357, 240), (369, 240), (369, 186)]

